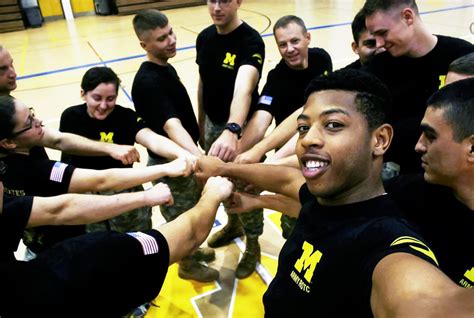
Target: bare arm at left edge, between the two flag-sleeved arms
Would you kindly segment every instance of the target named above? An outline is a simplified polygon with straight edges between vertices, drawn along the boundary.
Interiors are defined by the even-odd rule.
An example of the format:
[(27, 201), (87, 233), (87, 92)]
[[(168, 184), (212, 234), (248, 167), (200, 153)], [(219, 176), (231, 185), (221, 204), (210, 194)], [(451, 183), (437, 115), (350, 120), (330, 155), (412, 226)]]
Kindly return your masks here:
[(172, 203), (171, 191), (163, 183), (147, 191), (115, 195), (63, 194), (46, 198), (34, 197), (27, 227), (89, 224), (142, 206)]

